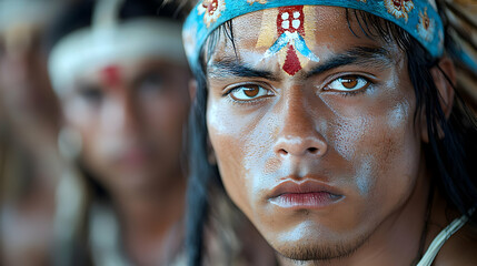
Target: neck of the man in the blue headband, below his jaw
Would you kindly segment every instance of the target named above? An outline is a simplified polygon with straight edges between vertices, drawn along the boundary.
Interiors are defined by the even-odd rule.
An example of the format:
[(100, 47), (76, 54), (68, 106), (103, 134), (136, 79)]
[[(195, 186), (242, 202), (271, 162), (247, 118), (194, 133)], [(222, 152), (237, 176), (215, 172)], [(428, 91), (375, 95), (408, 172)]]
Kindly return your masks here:
[[(419, 259), (429, 202), (429, 176), (421, 166), (417, 184), (408, 201), (378, 225), (357, 250), (347, 257), (329, 260), (290, 260), (279, 256), (280, 265), (413, 265)], [(418, 262), (418, 260), (417, 260)]]

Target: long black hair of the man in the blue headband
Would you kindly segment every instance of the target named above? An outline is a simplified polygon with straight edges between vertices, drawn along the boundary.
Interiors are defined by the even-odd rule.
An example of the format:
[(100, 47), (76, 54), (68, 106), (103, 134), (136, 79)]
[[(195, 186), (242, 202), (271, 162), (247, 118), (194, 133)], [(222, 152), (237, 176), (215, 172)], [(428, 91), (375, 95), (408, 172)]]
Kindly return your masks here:
[[(453, 112), (450, 117), (446, 119), (430, 70), (438, 68), (449, 83), (450, 80), (438, 66), (438, 60), (433, 59), (427, 50), (409, 33), (392, 22), (364, 11), (347, 9), (346, 14), (348, 23), (351, 18), (359, 22), (360, 30), (366, 38), (380, 38), (386, 42), (396, 42), (406, 53), (409, 78), (415, 88), (417, 102), (415, 121), (421, 114), (427, 121), (429, 143), (423, 145), (427, 166), (434, 174), (431, 183), (445, 196), (449, 207), (467, 215), (470, 208), (477, 206), (477, 171), (476, 164), (473, 162), (477, 153), (475, 115), (466, 108), (458, 90), (455, 90)], [(350, 24), (349, 29), (355, 33)], [(221, 37), (226, 37), (223, 38), (225, 41), (230, 41), (235, 47), (231, 21), (212, 32), (202, 48), (201, 65), (192, 70), (197, 79), (197, 94), (189, 121), (189, 143), (191, 145), (187, 211), (189, 265), (201, 265), (203, 259), (203, 228), (208, 223), (208, 213), (212, 202), (209, 191), (213, 186), (223, 187), (217, 165), (210, 164), (207, 160), (209, 144), (206, 124), (208, 96), (206, 64)], [(449, 35), (446, 35), (445, 45), (447, 55), (454, 59), (456, 44)], [(206, 51), (209, 52), (208, 55), (206, 55)], [(439, 136), (439, 130), (444, 132), (444, 137)], [(477, 222), (476, 215), (470, 218), (473, 224)]]

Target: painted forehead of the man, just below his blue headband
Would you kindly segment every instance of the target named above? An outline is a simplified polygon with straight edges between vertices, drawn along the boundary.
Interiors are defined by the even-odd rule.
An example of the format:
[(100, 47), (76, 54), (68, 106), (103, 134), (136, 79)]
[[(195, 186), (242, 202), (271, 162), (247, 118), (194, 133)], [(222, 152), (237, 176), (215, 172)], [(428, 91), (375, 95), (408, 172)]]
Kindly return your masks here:
[(378, 35), (369, 38), (370, 28), (354, 10), (326, 6), (297, 6), (266, 9), (235, 18), (232, 20), (235, 47), (225, 34), (211, 54), (209, 63), (222, 57), (262, 57), (277, 42), (284, 31), (297, 31), (315, 54), (346, 51), (350, 47), (385, 48), (390, 53), (399, 53), (394, 42), (385, 42)]

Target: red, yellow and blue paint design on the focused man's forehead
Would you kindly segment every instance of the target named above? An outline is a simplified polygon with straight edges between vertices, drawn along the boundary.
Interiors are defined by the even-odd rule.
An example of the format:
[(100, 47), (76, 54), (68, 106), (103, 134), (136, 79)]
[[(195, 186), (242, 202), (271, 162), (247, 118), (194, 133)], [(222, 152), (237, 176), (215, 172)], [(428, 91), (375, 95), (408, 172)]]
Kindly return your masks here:
[[(319, 58), (307, 45), (307, 40), (312, 40), (312, 34), (307, 38), (306, 27), (312, 27), (312, 24), (308, 22), (310, 18), (307, 20), (305, 18), (311, 17), (311, 20), (315, 18), (312, 12), (306, 12), (307, 10), (310, 8), (296, 6), (264, 12), (265, 19), (261, 22), (260, 37), (256, 47), (267, 45), (266, 43), (275, 39), (275, 43), (266, 51), (262, 60), (281, 53), (280, 57), (284, 59), (280, 62), (281, 69), (289, 75), (295, 75), (309, 60), (319, 62)], [(276, 24), (269, 22), (270, 16), (277, 17)]]

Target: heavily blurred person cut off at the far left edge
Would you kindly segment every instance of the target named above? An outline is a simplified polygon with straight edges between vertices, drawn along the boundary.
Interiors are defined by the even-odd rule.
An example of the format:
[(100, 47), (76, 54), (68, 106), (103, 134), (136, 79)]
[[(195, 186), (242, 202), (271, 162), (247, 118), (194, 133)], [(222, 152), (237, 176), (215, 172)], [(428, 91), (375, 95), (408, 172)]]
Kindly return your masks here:
[(1, 265), (48, 265), (58, 108), (41, 38), (58, 1), (0, 0)]

